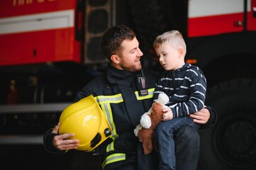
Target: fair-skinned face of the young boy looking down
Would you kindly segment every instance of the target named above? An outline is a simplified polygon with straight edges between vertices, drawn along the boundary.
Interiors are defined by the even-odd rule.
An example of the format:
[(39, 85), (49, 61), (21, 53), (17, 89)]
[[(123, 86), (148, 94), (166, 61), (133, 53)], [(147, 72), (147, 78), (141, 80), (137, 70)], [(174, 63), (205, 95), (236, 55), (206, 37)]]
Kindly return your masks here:
[(159, 45), (155, 52), (165, 70), (179, 69), (184, 65), (184, 50), (182, 47), (175, 49), (172, 45), (165, 42)]

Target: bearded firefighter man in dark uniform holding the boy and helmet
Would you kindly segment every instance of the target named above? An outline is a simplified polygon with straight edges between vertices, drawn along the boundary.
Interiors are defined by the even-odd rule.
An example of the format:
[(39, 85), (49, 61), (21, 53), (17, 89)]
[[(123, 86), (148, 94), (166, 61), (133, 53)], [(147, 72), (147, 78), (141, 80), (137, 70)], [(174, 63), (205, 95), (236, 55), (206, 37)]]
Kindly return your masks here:
[[(84, 86), (74, 101), (94, 96), (111, 126), (110, 137), (92, 151), (102, 156), (102, 168), (137, 170), (137, 162), (140, 163), (137, 160), (137, 149), (141, 147), (141, 142), (135, 137), (133, 130), (139, 124), (140, 116), (152, 106), (155, 81), (159, 73), (143, 72), (140, 63), (143, 52), (140, 51), (135, 33), (126, 26), (114, 26), (106, 30), (101, 48), (110, 62), (108, 69)], [(216, 113), (208, 107), (192, 116), (196, 123), (212, 125), (215, 123)], [(60, 126), (59, 123), (53, 130), (45, 132), (43, 143), (48, 152), (65, 153), (68, 149), (79, 147), (79, 139), (70, 139), (75, 132), (58, 134)], [(87, 133), (90, 131), (84, 132), (84, 135)], [(191, 164), (197, 164), (199, 148), (191, 146), (198, 143), (198, 132), (184, 127), (178, 130), (174, 140), (179, 141), (177, 167), (182, 164), (181, 169), (187, 170)], [(149, 155), (153, 156), (155, 152)], [(152, 164), (149, 168), (157, 169), (154, 167)]]

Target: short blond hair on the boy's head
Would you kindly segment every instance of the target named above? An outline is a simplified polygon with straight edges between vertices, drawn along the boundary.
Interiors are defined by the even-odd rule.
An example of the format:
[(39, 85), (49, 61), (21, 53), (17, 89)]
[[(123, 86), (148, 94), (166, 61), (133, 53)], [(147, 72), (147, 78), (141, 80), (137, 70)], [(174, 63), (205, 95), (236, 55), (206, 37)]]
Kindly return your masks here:
[(177, 50), (179, 47), (182, 47), (184, 49), (184, 54), (186, 54), (187, 45), (184, 41), (182, 33), (179, 33), (178, 30), (169, 30), (165, 33), (162, 33), (162, 35), (158, 35), (157, 38), (155, 38), (153, 47), (156, 49), (163, 43), (168, 43)]

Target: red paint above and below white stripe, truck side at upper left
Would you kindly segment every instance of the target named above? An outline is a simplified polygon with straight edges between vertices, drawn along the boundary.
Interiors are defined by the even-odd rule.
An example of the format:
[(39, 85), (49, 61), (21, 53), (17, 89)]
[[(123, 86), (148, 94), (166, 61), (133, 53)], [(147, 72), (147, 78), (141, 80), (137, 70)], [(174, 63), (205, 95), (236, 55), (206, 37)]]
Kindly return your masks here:
[[(75, 1), (71, 0), (38, 0), (32, 1), (32, 4), (10, 6), (13, 1), (1, 1), (0, 19), (3, 16), (23, 16), (28, 13), (33, 16), (46, 11), (75, 10), (76, 7)], [(0, 66), (68, 61), (81, 61), (81, 42), (75, 40), (74, 24), (63, 28), (0, 34)]]

